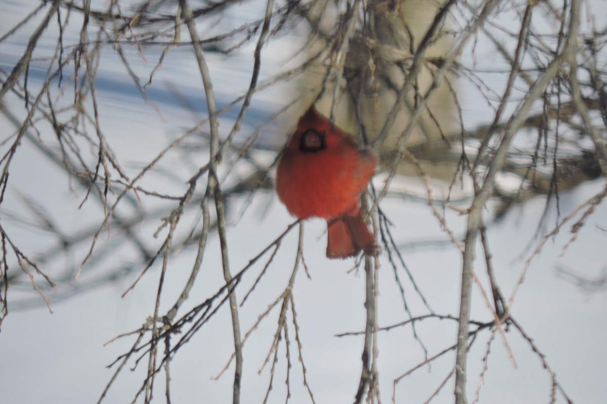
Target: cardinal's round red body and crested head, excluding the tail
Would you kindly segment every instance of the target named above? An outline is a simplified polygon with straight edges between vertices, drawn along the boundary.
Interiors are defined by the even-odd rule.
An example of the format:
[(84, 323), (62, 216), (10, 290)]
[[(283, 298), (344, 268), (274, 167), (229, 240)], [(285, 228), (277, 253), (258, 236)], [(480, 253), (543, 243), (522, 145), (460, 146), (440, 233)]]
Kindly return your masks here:
[(299, 219), (333, 219), (358, 204), (377, 159), (314, 106), (299, 119), (278, 164), (276, 192)]

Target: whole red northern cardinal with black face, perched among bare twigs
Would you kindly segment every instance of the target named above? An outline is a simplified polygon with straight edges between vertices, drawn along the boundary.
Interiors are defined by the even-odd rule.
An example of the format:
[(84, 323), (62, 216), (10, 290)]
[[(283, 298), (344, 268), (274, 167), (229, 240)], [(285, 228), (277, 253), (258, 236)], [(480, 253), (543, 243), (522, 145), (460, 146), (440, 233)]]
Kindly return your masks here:
[(278, 163), (276, 193), (293, 216), (327, 220), (327, 257), (381, 251), (358, 204), (376, 164), (371, 150), (359, 149), (314, 105), (297, 122)]

